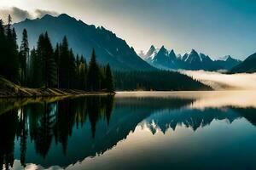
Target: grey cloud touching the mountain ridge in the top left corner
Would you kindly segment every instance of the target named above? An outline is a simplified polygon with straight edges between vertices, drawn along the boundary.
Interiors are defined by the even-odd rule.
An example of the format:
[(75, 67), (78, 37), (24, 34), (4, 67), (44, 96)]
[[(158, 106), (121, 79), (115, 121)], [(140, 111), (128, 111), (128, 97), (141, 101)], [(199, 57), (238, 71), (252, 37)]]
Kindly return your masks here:
[(7, 22), (7, 18), (9, 14), (12, 16), (14, 23), (19, 22), (21, 20), (25, 20), (25, 19), (41, 18), (45, 14), (50, 14), (53, 16), (58, 15), (58, 13), (55, 11), (49, 11), (44, 9), (36, 9), (33, 12), (30, 12), (17, 7), (0, 8), (0, 19), (2, 19), (5, 23)]

